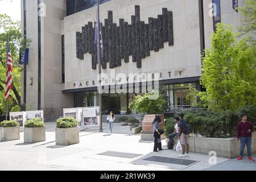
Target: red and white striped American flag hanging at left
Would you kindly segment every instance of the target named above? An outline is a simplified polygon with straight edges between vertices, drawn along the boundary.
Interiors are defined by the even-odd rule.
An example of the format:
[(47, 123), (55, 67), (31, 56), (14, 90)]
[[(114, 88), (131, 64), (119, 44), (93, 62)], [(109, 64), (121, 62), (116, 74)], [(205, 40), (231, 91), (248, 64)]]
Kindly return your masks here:
[(11, 51), (10, 51), (10, 47), (9, 47), (8, 48), (8, 58), (7, 58), (6, 82), (5, 82), (5, 86), (6, 86), (5, 98), (6, 98), (6, 100), (9, 100), (11, 86), (13, 86), (13, 81), (11, 80), (11, 72), (13, 72), (13, 60), (11, 60)]

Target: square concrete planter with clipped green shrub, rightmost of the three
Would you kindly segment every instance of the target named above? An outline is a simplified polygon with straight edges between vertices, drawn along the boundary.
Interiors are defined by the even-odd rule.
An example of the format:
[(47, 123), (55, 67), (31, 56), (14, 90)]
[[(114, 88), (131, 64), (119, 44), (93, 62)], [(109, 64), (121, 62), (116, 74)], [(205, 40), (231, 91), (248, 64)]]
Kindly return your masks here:
[(64, 117), (57, 119), (56, 127), (56, 145), (68, 146), (79, 143), (78, 122), (73, 117)]

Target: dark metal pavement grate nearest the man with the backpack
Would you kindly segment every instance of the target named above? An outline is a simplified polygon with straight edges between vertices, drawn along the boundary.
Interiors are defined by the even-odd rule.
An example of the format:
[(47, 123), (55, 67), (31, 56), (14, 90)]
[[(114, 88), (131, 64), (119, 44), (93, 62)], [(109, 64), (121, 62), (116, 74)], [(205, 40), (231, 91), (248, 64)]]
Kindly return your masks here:
[(189, 165), (197, 162), (196, 160), (165, 158), (165, 157), (159, 157), (159, 156), (151, 156), (150, 158), (146, 158), (143, 160), (159, 162), (159, 163), (179, 164), (179, 165), (183, 165), (183, 166), (189, 166)]

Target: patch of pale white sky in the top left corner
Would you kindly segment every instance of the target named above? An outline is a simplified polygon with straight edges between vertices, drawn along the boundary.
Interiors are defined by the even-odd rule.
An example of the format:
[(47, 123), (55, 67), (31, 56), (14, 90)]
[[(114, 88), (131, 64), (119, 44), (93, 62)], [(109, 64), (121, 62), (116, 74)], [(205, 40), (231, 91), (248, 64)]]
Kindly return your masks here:
[(0, 0), (0, 14), (9, 15), (14, 21), (20, 21), (20, 0)]

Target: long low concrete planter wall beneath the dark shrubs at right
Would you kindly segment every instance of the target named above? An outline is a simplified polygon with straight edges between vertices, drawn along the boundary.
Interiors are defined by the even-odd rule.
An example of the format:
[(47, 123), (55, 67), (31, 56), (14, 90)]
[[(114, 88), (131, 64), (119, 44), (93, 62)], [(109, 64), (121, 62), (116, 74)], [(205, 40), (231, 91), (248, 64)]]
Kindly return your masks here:
[[(174, 138), (175, 143), (177, 139)], [(168, 143), (168, 140), (166, 140)], [(210, 151), (216, 152), (217, 156), (224, 158), (237, 158), (240, 151), (240, 141), (236, 138), (204, 138), (204, 137), (189, 137), (189, 151), (209, 154)], [(251, 153), (256, 152), (256, 132), (253, 133), (251, 141)], [(244, 155), (247, 154), (245, 147)]]

